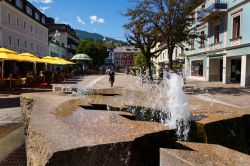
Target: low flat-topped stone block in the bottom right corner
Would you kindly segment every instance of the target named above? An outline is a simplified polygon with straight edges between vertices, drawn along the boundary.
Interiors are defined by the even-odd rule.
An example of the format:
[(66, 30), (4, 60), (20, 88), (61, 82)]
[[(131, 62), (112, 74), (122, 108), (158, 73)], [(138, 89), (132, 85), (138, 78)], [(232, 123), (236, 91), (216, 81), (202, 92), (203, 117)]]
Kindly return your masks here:
[(180, 149), (160, 149), (161, 166), (250, 165), (250, 156), (215, 144), (179, 142)]

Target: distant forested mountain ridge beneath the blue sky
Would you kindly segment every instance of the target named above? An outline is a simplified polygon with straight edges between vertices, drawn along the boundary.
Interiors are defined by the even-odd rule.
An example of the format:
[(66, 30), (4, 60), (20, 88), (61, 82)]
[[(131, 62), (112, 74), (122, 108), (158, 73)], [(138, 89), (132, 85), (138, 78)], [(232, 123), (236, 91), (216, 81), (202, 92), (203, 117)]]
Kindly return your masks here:
[(103, 41), (105, 43), (113, 42), (115, 45), (126, 45), (127, 44), (124, 41), (116, 40), (116, 39), (109, 38), (109, 37), (104, 37), (98, 33), (90, 33), (90, 32), (86, 32), (86, 31), (82, 31), (82, 30), (78, 30), (78, 29), (75, 29), (75, 32), (76, 32), (77, 36), (83, 40)]

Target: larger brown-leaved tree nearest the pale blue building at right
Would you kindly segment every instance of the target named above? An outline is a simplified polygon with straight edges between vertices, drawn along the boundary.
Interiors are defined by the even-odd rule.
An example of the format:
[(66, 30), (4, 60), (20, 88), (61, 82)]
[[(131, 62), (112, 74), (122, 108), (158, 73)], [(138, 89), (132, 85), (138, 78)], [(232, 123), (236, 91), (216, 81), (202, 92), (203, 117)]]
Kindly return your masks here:
[(197, 33), (196, 28), (191, 28), (195, 19), (193, 11), (202, 0), (136, 0), (135, 2), (136, 6), (132, 10), (136, 12), (133, 12), (132, 17), (143, 18), (143, 21), (138, 23), (152, 27), (149, 35), (156, 36), (156, 40), (168, 50), (170, 69), (173, 69), (175, 47), (183, 47), (182, 43), (189, 43), (192, 38), (204, 38)]

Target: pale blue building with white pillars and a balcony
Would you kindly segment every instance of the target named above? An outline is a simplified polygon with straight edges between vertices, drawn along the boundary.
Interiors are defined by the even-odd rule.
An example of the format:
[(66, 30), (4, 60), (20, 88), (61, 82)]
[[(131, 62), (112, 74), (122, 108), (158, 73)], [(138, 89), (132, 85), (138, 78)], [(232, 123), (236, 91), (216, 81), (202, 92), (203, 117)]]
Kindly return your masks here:
[(187, 79), (250, 86), (250, 2), (206, 0), (195, 10), (198, 32), (186, 52)]

